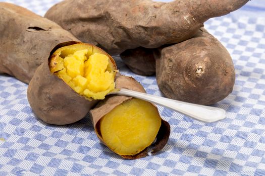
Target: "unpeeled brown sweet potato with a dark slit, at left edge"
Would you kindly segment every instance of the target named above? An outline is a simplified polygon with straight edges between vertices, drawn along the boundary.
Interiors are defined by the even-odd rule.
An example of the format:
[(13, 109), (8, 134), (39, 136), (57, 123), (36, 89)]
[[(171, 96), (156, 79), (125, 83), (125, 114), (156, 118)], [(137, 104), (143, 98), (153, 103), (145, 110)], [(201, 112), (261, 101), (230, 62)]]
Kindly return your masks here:
[(25, 83), (57, 44), (79, 41), (56, 23), (9, 3), (0, 3), (0, 34), (0, 74)]

